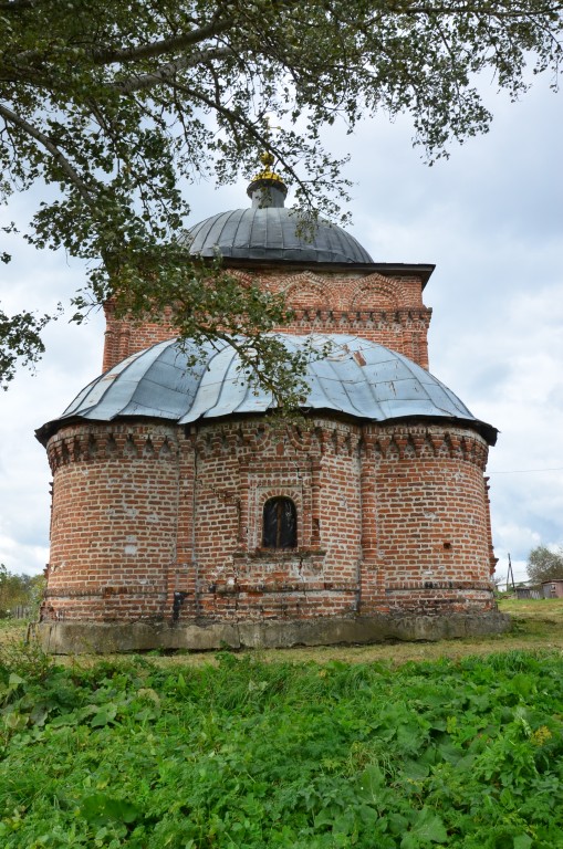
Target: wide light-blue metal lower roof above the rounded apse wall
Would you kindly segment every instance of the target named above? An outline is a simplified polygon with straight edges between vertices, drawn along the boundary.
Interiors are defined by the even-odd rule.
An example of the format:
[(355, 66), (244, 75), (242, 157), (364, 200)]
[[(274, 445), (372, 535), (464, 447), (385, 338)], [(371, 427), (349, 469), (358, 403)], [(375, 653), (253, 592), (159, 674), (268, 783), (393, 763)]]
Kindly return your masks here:
[[(473, 427), (490, 443), (496, 441), (494, 428), (476, 419), (450, 389), (402, 354), (357, 336), (277, 335), (289, 352), (307, 345), (313, 352), (306, 373), (306, 410), (332, 410), (378, 422), (450, 419)], [(195, 345), (170, 339), (134, 354), (86, 386), (59, 419), (38, 431), (38, 438), (46, 442), (59, 427), (76, 418), (148, 417), (187, 424), (274, 407), (270, 394), (243, 379), (239, 356), (228, 343), (209, 344), (197, 365), (190, 366), (196, 350)]]

